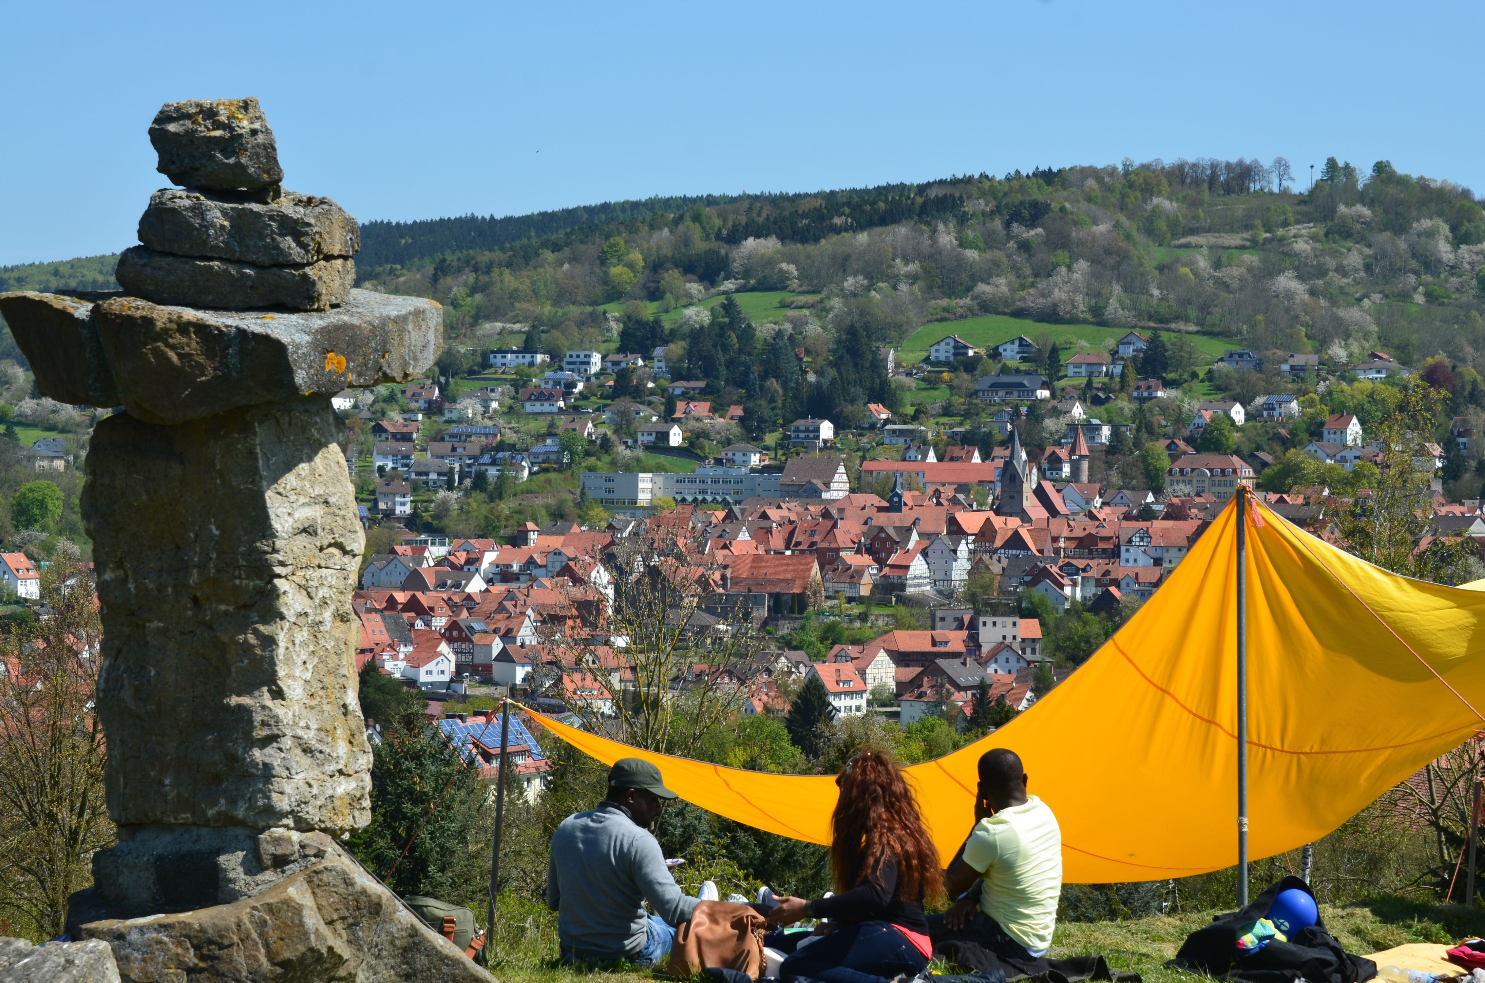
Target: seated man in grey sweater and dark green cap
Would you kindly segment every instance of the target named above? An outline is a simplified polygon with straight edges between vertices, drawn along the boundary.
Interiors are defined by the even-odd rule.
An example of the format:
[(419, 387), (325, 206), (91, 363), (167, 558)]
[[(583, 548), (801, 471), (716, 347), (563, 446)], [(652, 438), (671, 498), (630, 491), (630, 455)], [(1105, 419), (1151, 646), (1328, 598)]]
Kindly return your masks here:
[[(674, 927), (696, 907), (696, 898), (676, 886), (649, 833), (661, 799), (674, 797), (658, 768), (625, 757), (609, 771), (609, 796), (598, 808), (569, 815), (557, 827), (546, 864), (546, 907), (557, 912), (564, 962), (653, 965), (670, 955)], [(642, 901), (655, 915), (646, 916)]]

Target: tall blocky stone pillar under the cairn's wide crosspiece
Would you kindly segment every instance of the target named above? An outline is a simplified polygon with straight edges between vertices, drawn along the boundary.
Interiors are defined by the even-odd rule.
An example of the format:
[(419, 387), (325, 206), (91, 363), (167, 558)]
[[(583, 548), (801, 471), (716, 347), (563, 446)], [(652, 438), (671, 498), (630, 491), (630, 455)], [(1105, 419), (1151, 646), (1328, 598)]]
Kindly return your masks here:
[(82, 512), (120, 826), (370, 821), (350, 610), (362, 533), (337, 435), (328, 398), (94, 431)]

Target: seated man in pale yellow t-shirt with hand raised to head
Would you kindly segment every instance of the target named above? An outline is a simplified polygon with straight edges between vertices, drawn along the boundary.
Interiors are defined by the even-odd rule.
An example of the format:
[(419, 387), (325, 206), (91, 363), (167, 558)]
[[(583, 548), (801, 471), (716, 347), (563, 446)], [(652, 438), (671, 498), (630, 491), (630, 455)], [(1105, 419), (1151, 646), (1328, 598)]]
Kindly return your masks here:
[(1062, 830), (1026, 783), (1016, 751), (998, 747), (980, 757), (974, 829), (943, 875), (959, 901), (930, 916), (934, 943), (973, 941), (1010, 959), (1047, 955), (1062, 894)]

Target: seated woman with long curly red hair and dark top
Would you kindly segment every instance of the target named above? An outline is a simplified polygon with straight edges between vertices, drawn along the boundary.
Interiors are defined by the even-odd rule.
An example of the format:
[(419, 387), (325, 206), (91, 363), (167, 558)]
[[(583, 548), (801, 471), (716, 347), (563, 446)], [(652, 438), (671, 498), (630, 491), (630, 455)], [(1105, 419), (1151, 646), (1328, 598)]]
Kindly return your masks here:
[(823, 983), (888, 983), (928, 967), (933, 944), (924, 898), (943, 894), (939, 851), (924, 829), (918, 797), (878, 750), (863, 750), (836, 778), (830, 817), (835, 895), (780, 898), (769, 921), (827, 918), (835, 928), (784, 959), (780, 977)]

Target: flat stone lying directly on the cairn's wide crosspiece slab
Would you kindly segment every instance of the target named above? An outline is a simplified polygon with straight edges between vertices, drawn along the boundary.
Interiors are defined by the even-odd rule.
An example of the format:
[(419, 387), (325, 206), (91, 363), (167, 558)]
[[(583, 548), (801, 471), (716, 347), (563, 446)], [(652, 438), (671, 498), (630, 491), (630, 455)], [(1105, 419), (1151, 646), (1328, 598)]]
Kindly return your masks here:
[(157, 304), (330, 310), (343, 303), (355, 285), (356, 263), (337, 257), (306, 266), (255, 266), (132, 246), (119, 255), (113, 275), (125, 291)]

